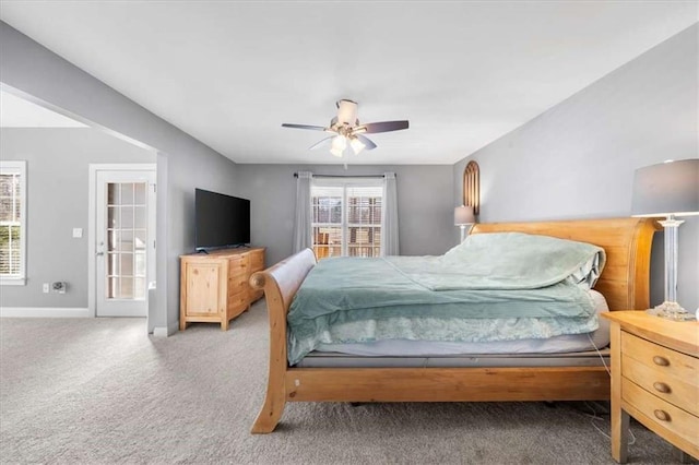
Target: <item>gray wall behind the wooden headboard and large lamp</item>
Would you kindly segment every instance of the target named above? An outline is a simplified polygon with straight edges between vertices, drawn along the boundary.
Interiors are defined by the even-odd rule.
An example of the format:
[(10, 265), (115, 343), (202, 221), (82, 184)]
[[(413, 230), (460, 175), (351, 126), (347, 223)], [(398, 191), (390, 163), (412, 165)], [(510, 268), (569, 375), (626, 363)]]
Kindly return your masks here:
[[(695, 25), (454, 165), (462, 199), (469, 160), (481, 166), (481, 222), (628, 216), (633, 171), (697, 158)], [(526, 90), (522, 90), (525, 92)], [(699, 217), (679, 228), (678, 300), (699, 306)], [(651, 300), (663, 300), (662, 234), (653, 242)]]

